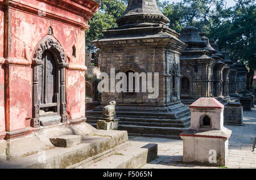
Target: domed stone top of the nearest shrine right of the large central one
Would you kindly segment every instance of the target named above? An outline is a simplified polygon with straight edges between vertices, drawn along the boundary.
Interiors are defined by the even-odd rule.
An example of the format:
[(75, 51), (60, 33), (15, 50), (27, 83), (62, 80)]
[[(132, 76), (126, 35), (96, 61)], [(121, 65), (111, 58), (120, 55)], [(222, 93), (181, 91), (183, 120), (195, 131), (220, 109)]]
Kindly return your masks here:
[(188, 48), (204, 48), (206, 45), (198, 35), (198, 29), (193, 26), (181, 30), (180, 40), (188, 45)]

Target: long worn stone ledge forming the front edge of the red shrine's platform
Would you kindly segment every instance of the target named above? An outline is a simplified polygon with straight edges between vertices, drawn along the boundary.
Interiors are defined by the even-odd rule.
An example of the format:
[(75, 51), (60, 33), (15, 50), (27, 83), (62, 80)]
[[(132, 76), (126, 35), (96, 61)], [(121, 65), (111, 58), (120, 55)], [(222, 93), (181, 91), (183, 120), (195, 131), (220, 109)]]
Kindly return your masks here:
[[(82, 127), (84, 126), (79, 126), (80, 131), (83, 130)], [(77, 168), (76, 165), (81, 161), (101, 160), (103, 157), (111, 155), (115, 149), (122, 149), (129, 144), (126, 131), (93, 130), (87, 135), (81, 136), (80, 144), (67, 148), (52, 145), (47, 150), (42, 149), (31, 155), (10, 157), (8, 161), (0, 162), (0, 168)]]

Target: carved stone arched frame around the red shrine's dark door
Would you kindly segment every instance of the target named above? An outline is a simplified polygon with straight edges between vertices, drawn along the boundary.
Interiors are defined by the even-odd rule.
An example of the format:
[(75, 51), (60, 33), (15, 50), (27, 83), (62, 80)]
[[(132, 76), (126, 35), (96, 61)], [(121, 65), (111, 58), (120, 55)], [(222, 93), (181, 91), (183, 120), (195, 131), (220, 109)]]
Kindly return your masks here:
[(49, 51), (52, 53), (56, 61), (56, 68), (59, 72), (59, 115), (61, 117), (61, 122), (67, 121), (67, 105), (65, 100), (65, 68), (68, 67), (66, 61), (66, 55), (64, 53), (63, 47), (52, 36), (52, 28), (49, 27), (48, 35), (43, 37), (42, 40), (38, 42), (35, 48), (34, 57), (32, 59), (32, 119), (31, 126), (40, 126), (40, 100), (38, 99), (39, 89), (39, 67), (44, 64), (42, 57), (43, 53)]

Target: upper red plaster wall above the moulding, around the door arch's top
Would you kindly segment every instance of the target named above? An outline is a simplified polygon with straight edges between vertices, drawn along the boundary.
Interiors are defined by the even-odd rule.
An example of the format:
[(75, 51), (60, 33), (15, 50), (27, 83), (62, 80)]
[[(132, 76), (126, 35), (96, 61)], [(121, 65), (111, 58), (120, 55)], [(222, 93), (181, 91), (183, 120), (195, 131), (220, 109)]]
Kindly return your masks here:
[[(31, 61), (38, 42), (47, 35), (48, 28), (53, 28), (53, 36), (60, 42), (71, 63), (84, 65), (85, 32), (79, 28), (59, 23), (40, 16), (24, 14), (10, 10), (9, 57), (24, 58), (24, 50), (28, 61)], [(72, 46), (76, 46), (77, 57), (72, 57)]]

